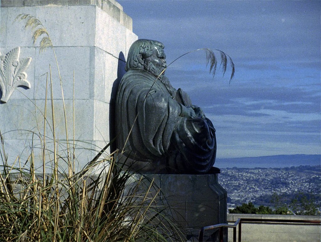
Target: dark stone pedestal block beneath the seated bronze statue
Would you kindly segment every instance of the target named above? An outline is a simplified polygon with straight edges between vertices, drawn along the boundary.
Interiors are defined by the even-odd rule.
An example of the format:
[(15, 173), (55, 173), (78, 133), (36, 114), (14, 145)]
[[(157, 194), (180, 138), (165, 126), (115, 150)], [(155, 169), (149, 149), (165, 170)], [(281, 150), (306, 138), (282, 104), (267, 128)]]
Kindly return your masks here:
[[(217, 169), (219, 171), (219, 169)], [(218, 172), (219, 173), (219, 172)], [(184, 230), (185, 238), (198, 241), (202, 227), (227, 222), (227, 192), (214, 174), (144, 174), (160, 188), (157, 204), (164, 207), (170, 219)], [(214, 230), (209, 231), (213, 234)], [(211, 241), (218, 241), (217, 231)], [(208, 234), (207, 234), (208, 238)], [(227, 230), (224, 230), (227, 241)], [(204, 237), (204, 241), (206, 237)]]

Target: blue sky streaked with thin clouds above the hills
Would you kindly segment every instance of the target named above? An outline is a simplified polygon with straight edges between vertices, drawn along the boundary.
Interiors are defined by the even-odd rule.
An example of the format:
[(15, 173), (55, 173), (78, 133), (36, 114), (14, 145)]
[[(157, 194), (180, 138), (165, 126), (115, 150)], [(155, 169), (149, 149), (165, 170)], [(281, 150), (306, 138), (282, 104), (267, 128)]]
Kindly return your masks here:
[(117, 2), (168, 64), (199, 48), (233, 60), (230, 84), (231, 68), (213, 78), (204, 51), (165, 73), (213, 122), (217, 158), (321, 153), (321, 1)]

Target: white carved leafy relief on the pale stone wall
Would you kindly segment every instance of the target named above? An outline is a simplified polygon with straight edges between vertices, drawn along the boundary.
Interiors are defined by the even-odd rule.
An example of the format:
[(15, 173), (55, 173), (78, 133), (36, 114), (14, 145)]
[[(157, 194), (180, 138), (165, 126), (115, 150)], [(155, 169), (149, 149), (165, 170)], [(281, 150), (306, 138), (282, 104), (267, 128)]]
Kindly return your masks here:
[(30, 64), (31, 57), (19, 60), (20, 47), (16, 47), (7, 54), (0, 53), (0, 89), (2, 91), (1, 102), (6, 103), (16, 87), (30, 88), (25, 72)]

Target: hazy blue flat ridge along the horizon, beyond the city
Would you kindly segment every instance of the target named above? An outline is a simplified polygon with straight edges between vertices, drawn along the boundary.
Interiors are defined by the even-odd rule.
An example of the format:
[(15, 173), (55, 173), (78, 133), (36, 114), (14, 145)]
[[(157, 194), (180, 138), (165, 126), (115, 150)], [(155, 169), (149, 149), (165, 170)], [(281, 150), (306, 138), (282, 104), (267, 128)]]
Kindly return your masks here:
[(282, 168), (299, 165), (320, 165), (321, 155), (277, 155), (216, 159), (218, 168)]

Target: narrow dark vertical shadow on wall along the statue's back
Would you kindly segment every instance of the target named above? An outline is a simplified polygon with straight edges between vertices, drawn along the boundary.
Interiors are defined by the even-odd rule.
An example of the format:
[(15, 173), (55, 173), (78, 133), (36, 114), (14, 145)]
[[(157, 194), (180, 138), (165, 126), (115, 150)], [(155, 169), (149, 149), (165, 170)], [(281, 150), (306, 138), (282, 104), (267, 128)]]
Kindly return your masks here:
[[(116, 137), (116, 129), (115, 129), (115, 104), (116, 104), (116, 95), (119, 83), (123, 78), (126, 66), (126, 60), (123, 52), (120, 52), (118, 55), (118, 66), (117, 66), (117, 79), (113, 83), (113, 87), (111, 89), (110, 101), (109, 101), (109, 140), (112, 141)], [(110, 145), (110, 152), (114, 152), (116, 150), (116, 140)]]

